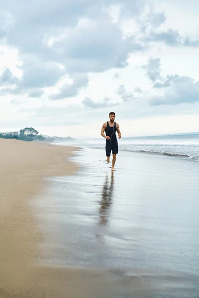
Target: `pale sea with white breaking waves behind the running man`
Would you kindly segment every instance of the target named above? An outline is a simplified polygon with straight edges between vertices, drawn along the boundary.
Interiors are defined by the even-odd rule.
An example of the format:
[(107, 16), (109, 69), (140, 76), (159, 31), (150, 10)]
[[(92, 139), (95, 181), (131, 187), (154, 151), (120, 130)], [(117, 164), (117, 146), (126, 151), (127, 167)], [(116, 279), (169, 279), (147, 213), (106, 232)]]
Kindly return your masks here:
[[(105, 140), (102, 137), (88, 140), (77, 139), (73, 143), (59, 143), (59, 145), (104, 149)], [(199, 161), (199, 133), (121, 138), (118, 140), (118, 146), (121, 151), (179, 156)]]

